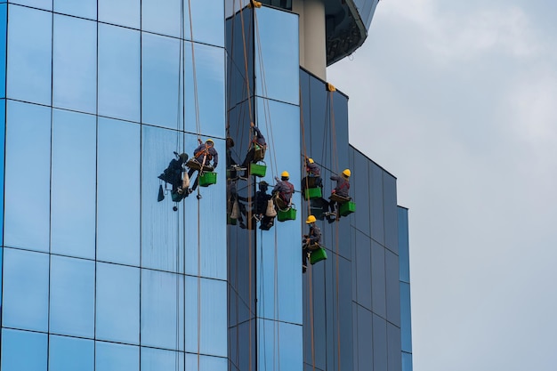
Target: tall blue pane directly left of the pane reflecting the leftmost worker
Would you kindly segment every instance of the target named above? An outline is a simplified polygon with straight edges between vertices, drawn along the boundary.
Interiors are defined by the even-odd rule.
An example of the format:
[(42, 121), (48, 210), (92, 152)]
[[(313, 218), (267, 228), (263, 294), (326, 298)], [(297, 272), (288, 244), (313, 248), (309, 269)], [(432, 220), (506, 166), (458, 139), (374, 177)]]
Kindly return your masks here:
[(99, 118), (97, 260), (140, 264), (140, 128)]

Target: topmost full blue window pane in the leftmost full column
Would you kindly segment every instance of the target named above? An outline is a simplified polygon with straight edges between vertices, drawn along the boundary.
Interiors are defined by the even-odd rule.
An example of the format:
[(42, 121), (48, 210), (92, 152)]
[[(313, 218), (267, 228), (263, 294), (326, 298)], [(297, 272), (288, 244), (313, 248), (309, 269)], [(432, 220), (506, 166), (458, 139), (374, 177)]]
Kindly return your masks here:
[[(36, 0), (36, 3), (44, 3)], [(52, 2), (50, 2), (52, 8)], [(52, 13), (10, 6), (7, 95), (51, 104)], [(28, 27), (32, 24), (33, 27)]]

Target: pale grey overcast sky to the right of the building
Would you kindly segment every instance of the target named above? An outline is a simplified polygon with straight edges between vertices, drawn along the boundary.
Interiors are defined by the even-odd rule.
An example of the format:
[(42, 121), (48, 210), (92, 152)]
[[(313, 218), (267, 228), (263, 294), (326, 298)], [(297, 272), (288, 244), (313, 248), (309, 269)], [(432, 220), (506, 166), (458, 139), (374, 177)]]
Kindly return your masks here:
[(557, 369), (556, 16), (383, 0), (327, 70), (409, 208), (415, 371)]

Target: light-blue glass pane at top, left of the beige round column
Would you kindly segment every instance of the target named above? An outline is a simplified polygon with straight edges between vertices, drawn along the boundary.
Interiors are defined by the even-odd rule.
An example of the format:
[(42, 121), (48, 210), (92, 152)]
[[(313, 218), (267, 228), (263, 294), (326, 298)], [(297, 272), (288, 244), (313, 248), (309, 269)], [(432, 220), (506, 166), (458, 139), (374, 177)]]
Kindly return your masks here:
[[(255, 12), (255, 93), (277, 101), (299, 102), (298, 16), (262, 7)], [(277, 29), (280, 32), (277, 33)]]

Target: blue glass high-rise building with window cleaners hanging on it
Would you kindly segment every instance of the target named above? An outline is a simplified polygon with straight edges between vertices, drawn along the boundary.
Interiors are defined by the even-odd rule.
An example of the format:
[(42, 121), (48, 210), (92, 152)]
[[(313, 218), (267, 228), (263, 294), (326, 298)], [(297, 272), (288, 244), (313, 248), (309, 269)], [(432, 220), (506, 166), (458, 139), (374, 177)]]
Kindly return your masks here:
[[(326, 77), (377, 0), (262, 3), (0, 1), (1, 371), (411, 370), (408, 210)], [(251, 123), (266, 172), (236, 179)], [(216, 183), (174, 202), (158, 176), (207, 139)], [(344, 168), (356, 212), (329, 222)], [(295, 220), (262, 230), (285, 171)]]

